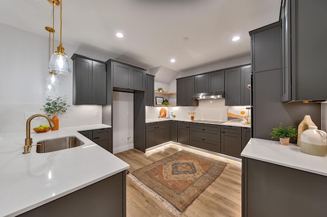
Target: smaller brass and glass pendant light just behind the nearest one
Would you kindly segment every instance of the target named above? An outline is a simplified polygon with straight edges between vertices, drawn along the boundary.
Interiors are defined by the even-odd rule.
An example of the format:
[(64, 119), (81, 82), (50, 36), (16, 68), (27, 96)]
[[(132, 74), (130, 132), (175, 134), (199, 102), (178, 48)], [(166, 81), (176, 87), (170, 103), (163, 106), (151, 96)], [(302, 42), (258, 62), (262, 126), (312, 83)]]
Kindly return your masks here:
[[(50, 55), (51, 55), (51, 33), (52, 33), (52, 53), (54, 52), (54, 33), (55, 33), (55, 6), (59, 6), (59, 1), (58, 0), (48, 0), (49, 3), (51, 3), (52, 6), (52, 28), (49, 26), (45, 26), (45, 30), (49, 32), (49, 60), (50, 60)], [(50, 71), (48, 78), (46, 78), (45, 85), (43, 87), (43, 91), (46, 93), (54, 93), (56, 92), (55, 86), (60, 85), (60, 80), (58, 75)]]

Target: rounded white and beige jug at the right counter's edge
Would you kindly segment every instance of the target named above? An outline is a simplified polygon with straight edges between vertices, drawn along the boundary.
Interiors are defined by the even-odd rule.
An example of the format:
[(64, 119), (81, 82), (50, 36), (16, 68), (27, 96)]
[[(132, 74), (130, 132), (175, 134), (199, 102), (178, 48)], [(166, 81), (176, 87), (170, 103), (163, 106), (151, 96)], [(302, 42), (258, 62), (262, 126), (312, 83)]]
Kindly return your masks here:
[(316, 156), (327, 155), (327, 134), (317, 126), (309, 126), (301, 134), (301, 152)]

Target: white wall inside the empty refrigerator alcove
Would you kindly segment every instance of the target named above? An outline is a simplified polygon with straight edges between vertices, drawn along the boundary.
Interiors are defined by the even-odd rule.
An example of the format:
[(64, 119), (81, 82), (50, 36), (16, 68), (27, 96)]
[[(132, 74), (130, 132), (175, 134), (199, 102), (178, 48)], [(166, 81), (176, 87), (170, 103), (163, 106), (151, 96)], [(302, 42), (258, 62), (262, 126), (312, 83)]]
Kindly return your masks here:
[[(133, 111), (133, 94), (114, 91), (112, 94), (112, 134), (114, 154), (134, 148)], [(127, 137), (131, 137), (131, 141), (127, 141)]]

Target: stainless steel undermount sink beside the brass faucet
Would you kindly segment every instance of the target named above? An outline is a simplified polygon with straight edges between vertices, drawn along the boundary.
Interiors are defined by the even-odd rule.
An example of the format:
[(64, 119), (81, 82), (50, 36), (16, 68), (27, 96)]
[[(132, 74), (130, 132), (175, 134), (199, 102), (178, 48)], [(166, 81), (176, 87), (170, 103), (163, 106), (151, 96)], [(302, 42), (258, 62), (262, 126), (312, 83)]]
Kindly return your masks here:
[(36, 152), (47, 153), (52, 151), (59, 151), (67, 148), (74, 148), (80, 145), (84, 145), (84, 142), (77, 137), (62, 137), (50, 140), (41, 140), (37, 142)]

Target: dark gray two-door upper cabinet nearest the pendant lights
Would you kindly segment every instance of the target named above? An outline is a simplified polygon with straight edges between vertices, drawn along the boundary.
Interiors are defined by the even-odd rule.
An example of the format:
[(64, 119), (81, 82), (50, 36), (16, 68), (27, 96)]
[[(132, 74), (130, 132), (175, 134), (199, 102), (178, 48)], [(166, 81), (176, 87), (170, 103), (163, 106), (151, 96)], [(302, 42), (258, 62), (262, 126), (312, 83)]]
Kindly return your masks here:
[(73, 104), (106, 104), (106, 65), (74, 54)]

